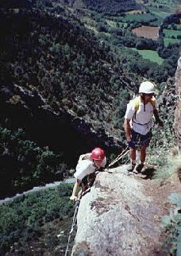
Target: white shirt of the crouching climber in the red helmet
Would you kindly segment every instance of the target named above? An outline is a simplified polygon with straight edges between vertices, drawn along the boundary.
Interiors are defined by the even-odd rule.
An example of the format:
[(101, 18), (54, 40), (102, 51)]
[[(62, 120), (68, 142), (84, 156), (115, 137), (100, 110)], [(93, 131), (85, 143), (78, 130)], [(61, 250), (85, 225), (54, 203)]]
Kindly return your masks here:
[[(76, 179), (83, 180), (85, 176), (91, 173), (94, 173), (96, 171), (97, 167), (94, 166), (94, 163), (90, 159), (90, 157), (91, 157), (91, 153), (87, 153), (79, 157), (79, 161), (76, 166), (76, 172), (74, 174)], [(101, 167), (105, 167), (105, 165), (106, 165), (106, 157), (103, 159)]]

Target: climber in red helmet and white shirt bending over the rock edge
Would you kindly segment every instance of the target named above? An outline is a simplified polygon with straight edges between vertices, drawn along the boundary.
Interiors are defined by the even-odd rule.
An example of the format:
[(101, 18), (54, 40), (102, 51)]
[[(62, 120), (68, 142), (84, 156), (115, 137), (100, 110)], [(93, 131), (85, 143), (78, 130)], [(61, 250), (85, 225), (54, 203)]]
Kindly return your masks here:
[(91, 153), (81, 155), (74, 174), (76, 181), (70, 200), (77, 200), (76, 192), (79, 186), (82, 188), (81, 192), (84, 192), (88, 187), (91, 187), (94, 183), (96, 171), (104, 168), (105, 165), (106, 157), (104, 150), (101, 148), (95, 148)]

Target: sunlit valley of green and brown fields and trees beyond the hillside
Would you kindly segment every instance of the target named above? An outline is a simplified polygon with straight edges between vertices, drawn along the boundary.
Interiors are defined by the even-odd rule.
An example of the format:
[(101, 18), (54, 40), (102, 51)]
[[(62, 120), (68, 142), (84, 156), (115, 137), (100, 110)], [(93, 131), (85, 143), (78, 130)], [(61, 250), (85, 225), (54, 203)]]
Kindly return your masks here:
[[(88, 17), (88, 14), (91, 17)], [(161, 83), (174, 76), (180, 48), (179, 14), (160, 17), (160, 9), (138, 13), (102, 15), (84, 12), (83, 22), (98, 38), (108, 42), (114, 56), (126, 72), (137, 73)], [(143, 30), (138, 36), (134, 31)], [(156, 29), (156, 33), (152, 33)], [(146, 36), (146, 33), (148, 36)]]

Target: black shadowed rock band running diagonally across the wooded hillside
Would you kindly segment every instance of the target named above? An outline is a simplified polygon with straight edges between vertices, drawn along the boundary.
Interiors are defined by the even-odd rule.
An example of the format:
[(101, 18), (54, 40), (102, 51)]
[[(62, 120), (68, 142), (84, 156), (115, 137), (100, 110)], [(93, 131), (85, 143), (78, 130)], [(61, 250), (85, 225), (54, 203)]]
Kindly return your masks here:
[(75, 165), (79, 154), (101, 146), (106, 153), (119, 153), (123, 145), (105, 130), (94, 130), (91, 123), (71, 113), (53, 111), (37, 91), (29, 91), (11, 83), (0, 86), (2, 123), (25, 129), (29, 137), (41, 146), (63, 151), (69, 165)]

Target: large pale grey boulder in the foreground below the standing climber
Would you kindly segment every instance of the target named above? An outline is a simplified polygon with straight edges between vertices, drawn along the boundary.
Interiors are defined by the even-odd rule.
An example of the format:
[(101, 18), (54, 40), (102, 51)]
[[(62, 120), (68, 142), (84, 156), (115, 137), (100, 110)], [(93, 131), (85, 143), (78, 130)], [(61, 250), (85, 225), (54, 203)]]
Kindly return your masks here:
[(125, 166), (110, 171), (98, 174), (80, 202), (71, 255), (167, 255), (160, 222), (168, 188), (160, 193), (152, 180), (129, 176)]

